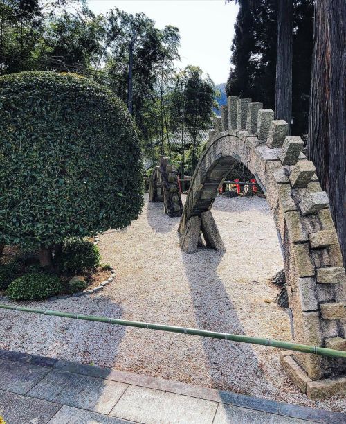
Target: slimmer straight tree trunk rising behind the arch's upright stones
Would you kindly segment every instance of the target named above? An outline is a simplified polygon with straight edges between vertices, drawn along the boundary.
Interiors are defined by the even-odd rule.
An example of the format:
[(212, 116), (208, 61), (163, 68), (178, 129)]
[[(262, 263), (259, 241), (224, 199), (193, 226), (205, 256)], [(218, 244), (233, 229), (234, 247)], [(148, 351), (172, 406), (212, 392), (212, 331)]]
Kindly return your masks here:
[(275, 117), (289, 124), (291, 134), (293, 0), (277, 3)]

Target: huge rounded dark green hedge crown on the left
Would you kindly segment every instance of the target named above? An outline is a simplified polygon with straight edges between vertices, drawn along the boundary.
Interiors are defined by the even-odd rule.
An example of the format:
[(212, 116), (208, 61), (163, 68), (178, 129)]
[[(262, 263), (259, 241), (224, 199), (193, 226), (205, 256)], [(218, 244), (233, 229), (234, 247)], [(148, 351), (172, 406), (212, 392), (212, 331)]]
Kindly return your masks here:
[(0, 204), (6, 244), (49, 247), (129, 225), (142, 177), (122, 101), (71, 73), (1, 76)]

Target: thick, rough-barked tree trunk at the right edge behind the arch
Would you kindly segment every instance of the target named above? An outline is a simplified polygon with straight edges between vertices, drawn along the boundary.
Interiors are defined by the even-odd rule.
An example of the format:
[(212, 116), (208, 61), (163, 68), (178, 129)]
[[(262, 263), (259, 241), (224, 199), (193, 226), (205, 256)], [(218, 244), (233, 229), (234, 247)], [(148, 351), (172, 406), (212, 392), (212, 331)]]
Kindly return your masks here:
[(345, 16), (345, 0), (316, 0), (308, 156), (329, 195), (346, 266)]

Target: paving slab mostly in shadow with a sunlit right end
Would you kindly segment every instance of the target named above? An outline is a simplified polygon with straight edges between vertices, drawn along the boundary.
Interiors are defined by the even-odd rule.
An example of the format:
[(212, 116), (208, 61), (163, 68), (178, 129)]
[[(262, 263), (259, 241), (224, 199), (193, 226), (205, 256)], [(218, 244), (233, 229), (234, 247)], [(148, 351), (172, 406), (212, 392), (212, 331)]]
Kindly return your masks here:
[(28, 396), (109, 414), (126, 388), (123, 383), (53, 370)]

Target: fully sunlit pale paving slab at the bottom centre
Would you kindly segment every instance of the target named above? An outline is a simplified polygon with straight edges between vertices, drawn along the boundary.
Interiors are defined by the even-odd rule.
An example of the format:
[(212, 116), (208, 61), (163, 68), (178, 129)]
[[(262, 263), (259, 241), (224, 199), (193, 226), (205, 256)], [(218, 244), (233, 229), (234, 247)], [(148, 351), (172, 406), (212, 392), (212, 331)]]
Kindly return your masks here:
[(210, 424), (217, 403), (145, 387), (129, 386), (111, 416), (145, 424)]

